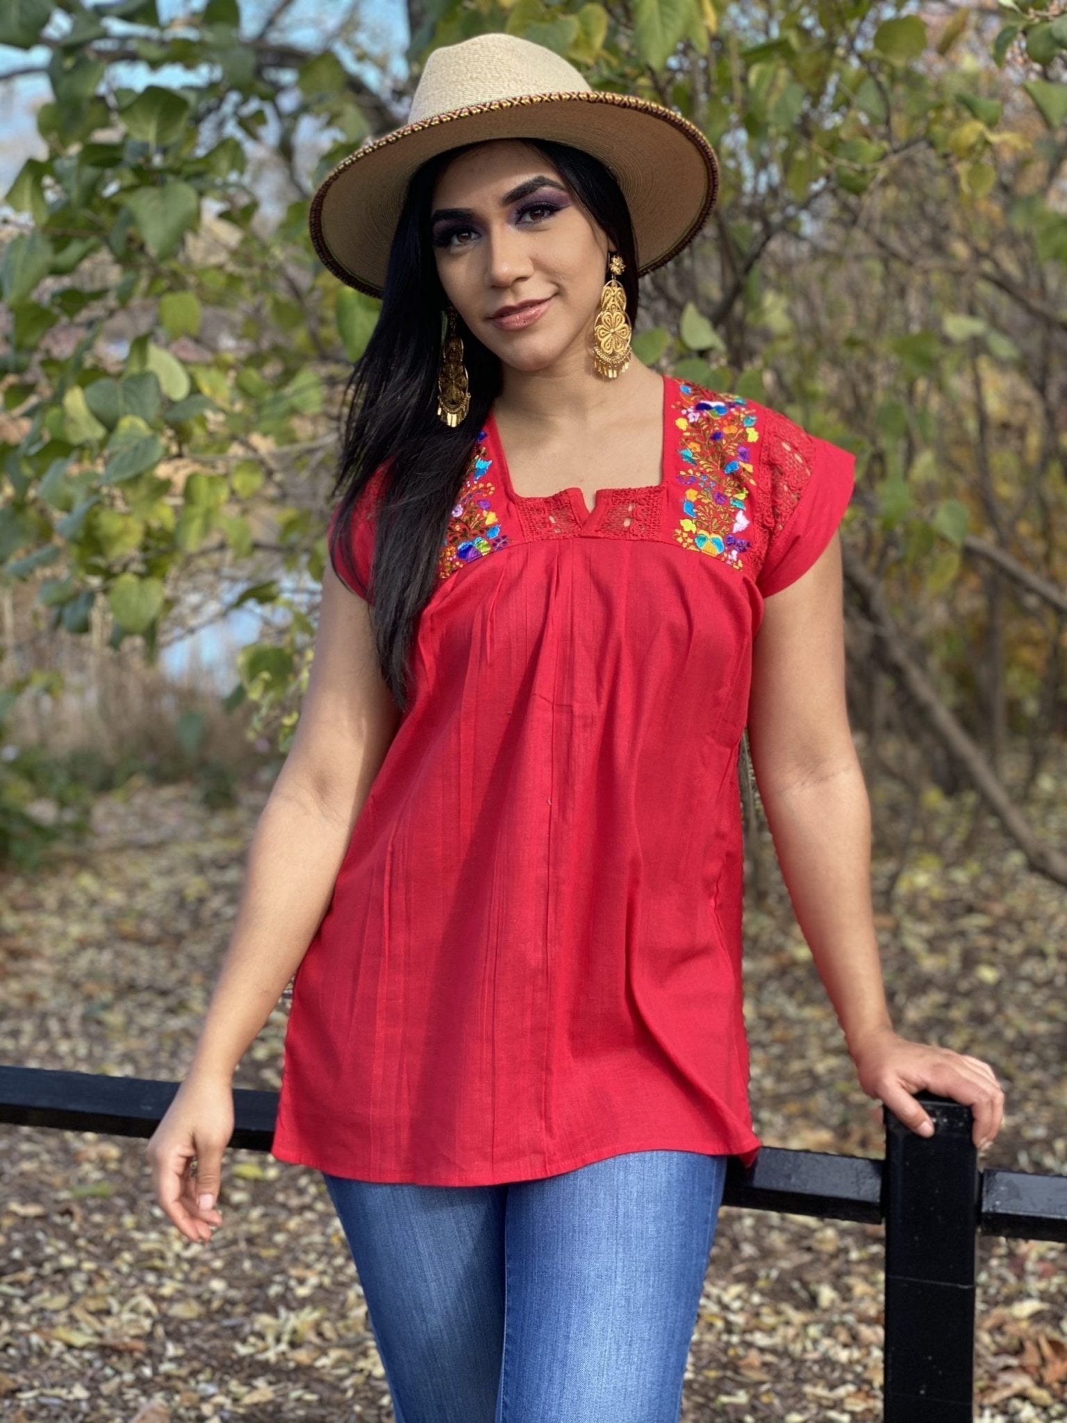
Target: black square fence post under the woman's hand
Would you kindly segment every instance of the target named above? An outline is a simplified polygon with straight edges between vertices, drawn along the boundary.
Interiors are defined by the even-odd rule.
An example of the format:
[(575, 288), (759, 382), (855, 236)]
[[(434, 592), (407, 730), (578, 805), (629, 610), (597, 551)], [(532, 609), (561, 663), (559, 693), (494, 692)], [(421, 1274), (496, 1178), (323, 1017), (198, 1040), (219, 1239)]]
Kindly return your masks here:
[(980, 1215), (970, 1107), (915, 1093), (932, 1137), (882, 1109), (885, 1423), (973, 1423)]

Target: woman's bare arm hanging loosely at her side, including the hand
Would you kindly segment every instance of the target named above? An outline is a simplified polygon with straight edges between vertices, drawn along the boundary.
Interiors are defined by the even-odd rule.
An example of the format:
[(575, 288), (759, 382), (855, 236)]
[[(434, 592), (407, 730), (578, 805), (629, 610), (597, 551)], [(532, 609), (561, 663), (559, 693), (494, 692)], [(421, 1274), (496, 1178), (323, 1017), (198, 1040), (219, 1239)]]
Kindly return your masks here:
[(208, 1241), (222, 1224), (215, 1202), (233, 1134), (233, 1072), (314, 938), (398, 721), (368, 605), (327, 566), (293, 746), (252, 837), (189, 1072), (147, 1146), (156, 1200), (189, 1239)]

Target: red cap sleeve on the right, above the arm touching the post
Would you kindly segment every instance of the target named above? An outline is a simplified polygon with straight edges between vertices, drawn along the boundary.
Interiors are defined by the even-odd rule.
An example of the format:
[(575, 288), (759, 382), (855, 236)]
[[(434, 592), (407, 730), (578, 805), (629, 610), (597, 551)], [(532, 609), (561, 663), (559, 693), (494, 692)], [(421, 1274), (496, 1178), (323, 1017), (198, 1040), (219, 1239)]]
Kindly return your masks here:
[(855, 487), (856, 457), (771, 411), (763, 448), (770, 538), (755, 586), (781, 592), (827, 548)]

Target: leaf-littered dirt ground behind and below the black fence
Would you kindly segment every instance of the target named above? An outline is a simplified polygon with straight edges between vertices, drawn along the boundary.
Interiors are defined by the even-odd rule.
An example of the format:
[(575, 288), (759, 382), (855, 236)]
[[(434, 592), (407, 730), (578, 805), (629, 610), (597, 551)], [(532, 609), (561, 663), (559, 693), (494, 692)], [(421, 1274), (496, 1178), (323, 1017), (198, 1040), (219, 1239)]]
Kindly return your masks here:
[[(132, 784), (101, 798), (87, 847), (0, 875), (4, 1062), (182, 1076), (265, 794), (208, 811), (188, 787)], [(1051, 776), (1037, 800), (1041, 834), (1067, 842)], [(993, 1064), (1007, 1117), (984, 1164), (1067, 1173), (1067, 896), (980, 810), (969, 838), (959, 804), (932, 795), (926, 811), (888, 905), (898, 867), (875, 865), (895, 1026)], [(855, 1081), (763, 854), (770, 892), (745, 918), (757, 1131), (768, 1146), (881, 1155), (881, 1109)], [(285, 1013), (283, 1000), (236, 1086), (279, 1086)], [(228, 1153), (225, 1225), (201, 1247), (151, 1198), (142, 1141), (0, 1127), (0, 1419), (393, 1417), (316, 1173)], [(1067, 1420), (1064, 1247), (983, 1238), (979, 1262), (980, 1423)], [(882, 1264), (881, 1227), (724, 1207), (684, 1423), (876, 1420)]]

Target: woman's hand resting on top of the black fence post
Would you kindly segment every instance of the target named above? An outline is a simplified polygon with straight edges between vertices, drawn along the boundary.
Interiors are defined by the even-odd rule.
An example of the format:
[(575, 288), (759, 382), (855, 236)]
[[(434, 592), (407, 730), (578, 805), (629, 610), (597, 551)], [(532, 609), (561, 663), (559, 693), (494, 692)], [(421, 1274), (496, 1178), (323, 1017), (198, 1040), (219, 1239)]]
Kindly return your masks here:
[(989, 1063), (980, 1057), (953, 1053), (949, 1047), (912, 1043), (899, 1033), (885, 1029), (868, 1036), (852, 1052), (859, 1086), (868, 1097), (885, 1103), (905, 1126), (919, 1136), (933, 1134), (933, 1123), (912, 1096), (932, 1091), (950, 1097), (972, 1109), (975, 1130), (972, 1138), (979, 1151), (984, 1150), (1000, 1131), (1004, 1120), (1004, 1093)]

